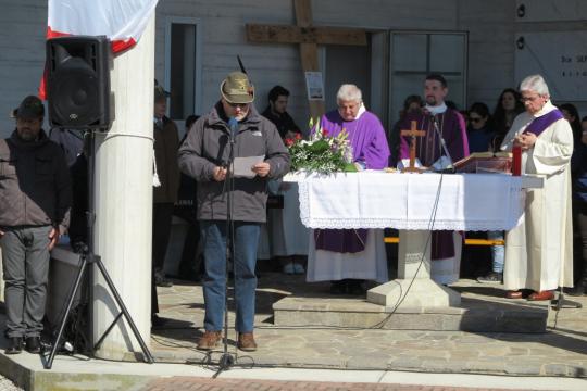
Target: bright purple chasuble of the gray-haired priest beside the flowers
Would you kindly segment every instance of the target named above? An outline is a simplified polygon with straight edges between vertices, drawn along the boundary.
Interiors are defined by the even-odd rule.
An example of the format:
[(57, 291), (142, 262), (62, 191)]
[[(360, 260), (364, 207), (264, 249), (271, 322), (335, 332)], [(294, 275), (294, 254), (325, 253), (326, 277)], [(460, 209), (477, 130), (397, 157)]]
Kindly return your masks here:
[[(347, 130), (354, 162), (361, 162), (371, 169), (387, 167), (389, 147), (375, 114), (366, 111), (358, 119), (345, 121), (338, 110), (334, 110), (322, 116), (321, 125), (330, 136)], [(314, 240), (317, 250), (357, 253), (365, 250), (366, 235), (366, 229), (315, 229)]]

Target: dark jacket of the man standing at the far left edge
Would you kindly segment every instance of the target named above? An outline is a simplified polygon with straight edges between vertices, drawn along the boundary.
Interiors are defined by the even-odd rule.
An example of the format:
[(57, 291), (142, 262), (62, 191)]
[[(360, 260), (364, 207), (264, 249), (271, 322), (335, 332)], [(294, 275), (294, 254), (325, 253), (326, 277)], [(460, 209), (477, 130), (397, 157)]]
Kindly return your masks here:
[(0, 140), (0, 227), (70, 225), (72, 187), (61, 148), (41, 130), (26, 142)]

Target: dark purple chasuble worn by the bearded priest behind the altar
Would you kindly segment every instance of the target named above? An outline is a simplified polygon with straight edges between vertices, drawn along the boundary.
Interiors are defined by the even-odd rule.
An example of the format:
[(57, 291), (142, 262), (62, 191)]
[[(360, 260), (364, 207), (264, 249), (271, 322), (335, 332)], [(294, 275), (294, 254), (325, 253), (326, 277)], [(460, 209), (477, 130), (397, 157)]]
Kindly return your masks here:
[[(438, 130), (447, 143), (447, 149), (453, 162), (469, 156), (469, 141), (466, 126), (459, 112), (447, 109), (446, 112), (436, 115)], [(425, 166), (430, 166), (444, 154), (442, 146), (434, 129), (429, 113), (420, 112), (409, 114), (402, 122), (400, 129), (410, 129), (411, 122), (417, 123), (417, 129), (425, 130), (426, 136), (416, 137), (416, 157)], [(410, 137), (401, 137), (401, 159), (410, 157)], [(454, 256), (454, 242), (452, 231), (435, 230), (432, 237), (430, 258), (444, 260)]]

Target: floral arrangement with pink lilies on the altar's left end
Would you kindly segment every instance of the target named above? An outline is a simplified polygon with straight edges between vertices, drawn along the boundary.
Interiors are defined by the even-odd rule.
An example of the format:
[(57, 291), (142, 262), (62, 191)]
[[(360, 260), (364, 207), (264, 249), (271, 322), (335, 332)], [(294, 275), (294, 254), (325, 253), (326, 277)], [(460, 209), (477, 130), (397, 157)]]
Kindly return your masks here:
[(291, 171), (305, 169), (321, 174), (334, 172), (355, 172), (352, 163), (352, 147), (347, 130), (330, 136), (320, 121), (310, 119), (310, 139), (303, 140), (300, 134), (286, 138), (285, 143), (291, 156)]

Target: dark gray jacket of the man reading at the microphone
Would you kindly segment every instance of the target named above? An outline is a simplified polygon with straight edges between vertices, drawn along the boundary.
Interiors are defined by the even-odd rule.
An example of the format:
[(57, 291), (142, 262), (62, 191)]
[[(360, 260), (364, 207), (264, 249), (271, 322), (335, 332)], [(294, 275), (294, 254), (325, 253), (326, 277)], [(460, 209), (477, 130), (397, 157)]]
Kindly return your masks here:
[[(289, 154), (275, 125), (261, 116), (252, 105), (249, 115), (238, 125), (235, 157), (264, 155), (271, 168), (264, 178), (235, 178), (233, 219), (263, 223), (266, 220), (267, 180), (279, 178), (289, 171)], [(179, 169), (198, 181), (199, 219), (226, 219), (225, 181), (215, 181), (213, 172), (214, 167), (228, 162), (229, 140), (227, 118), (218, 102), (209, 114), (193, 124), (179, 148)]]

